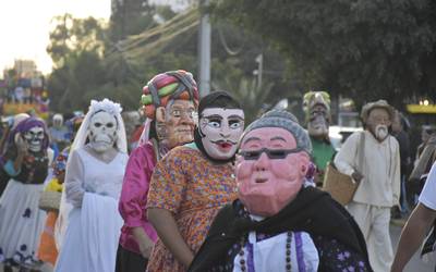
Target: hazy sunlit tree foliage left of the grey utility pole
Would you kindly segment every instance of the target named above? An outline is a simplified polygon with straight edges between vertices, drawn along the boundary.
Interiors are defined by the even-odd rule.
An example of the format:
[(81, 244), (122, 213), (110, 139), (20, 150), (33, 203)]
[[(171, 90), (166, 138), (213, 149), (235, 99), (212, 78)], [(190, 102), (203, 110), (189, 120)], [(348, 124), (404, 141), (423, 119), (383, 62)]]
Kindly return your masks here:
[[(119, 13), (112, 14), (109, 28), (95, 18), (73, 18), (69, 14), (53, 20), (55, 27), (47, 49), (55, 62), (55, 70), (48, 79), (52, 110), (86, 110), (90, 99), (101, 98), (120, 102), (124, 110), (135, 110), (140, 107), (142, 87), (157, 73), (177, 69), (196, 70), (196, 49), (182, 53), (184, 49), (172, 41), (178, 38), (180, 29), (179, 34), (173, 30), (159, 33), (162, 26), (153, 18), (159, 11), (161, 20), (172, 22), (174, 13), (168, 7), (144, 5), (135, 10), (134, 7), (138, 5), (132, 5), (132, 1), (125, 3), (130, 4), (130, 12), (125, 14), (129, 24), (124, 30), (131, 35), (125, 40), (111, 41), (107, 38), (117, 37), (120, 30), (120, 22), (114, 20)], [(195, 21), (192, 18), (189, 20)], [(142, 39), (154, 29), (157, 32), (150, 35), (153, 45), (147, 47), (149, 40)], [(180, 40), (184, 45), (192, 42), (195, 39), (192, 33)], [(159, 36), (164, 39), (159, 40)], [(144, 48), (153, 49), (155, 53), (142, 51)]]

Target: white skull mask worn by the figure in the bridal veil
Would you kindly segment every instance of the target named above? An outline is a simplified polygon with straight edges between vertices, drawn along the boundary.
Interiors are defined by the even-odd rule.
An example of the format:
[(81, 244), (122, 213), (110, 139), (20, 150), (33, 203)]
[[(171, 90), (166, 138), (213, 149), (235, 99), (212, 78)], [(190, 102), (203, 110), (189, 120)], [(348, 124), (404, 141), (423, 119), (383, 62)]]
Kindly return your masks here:
[(105, 152), (117, 140), (117, 120), (113, 115), (100, 111), (95, 113), (89, 123), (90, 147), (97, 152)]

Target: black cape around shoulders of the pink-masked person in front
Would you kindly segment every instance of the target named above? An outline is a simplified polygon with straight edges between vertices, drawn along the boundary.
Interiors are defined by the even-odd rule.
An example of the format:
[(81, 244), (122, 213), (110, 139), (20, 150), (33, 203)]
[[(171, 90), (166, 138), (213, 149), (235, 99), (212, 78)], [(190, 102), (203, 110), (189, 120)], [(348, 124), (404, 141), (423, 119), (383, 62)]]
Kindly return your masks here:
[(306, 232), (335, 238), (362, 256), (372, 271), (366, 243), (354, 219), (329, 194), (317, 188), (303, 188), (279, 213), (263, 221), (252, 221), (238, 213), (239, 200), (227, 205), (217, 214), (206, 240), (196, 254), (189, 271), (208, 271), (225, 265), (229, 249), (251, 231), (264, 234)]

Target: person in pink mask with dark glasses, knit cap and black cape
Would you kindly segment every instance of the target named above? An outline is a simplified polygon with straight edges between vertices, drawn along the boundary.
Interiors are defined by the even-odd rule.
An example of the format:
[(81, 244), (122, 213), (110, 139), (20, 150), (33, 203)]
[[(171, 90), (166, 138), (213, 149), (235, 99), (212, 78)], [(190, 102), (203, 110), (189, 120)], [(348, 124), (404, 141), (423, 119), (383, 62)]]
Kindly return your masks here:
[(240, 140), (239, 199), (219, 211), (189, 271), (372, 271), (351, 215), (304, 187), (311, 151), (289, 112), (254, 121)]

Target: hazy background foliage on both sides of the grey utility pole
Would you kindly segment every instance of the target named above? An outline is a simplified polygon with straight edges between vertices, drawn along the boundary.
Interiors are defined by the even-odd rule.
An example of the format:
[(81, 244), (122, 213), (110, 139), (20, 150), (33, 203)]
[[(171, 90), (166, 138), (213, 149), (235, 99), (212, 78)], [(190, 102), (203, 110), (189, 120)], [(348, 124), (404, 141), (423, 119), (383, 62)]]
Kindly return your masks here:
[[(112, 14), (108, 27), (70, 15), (55, 21), (48, 48), (56, 62), (48, 81), (53, 110), (86, 110), (90, 99), (105, 97), (120, 102), (124, 110), (134, 110), (140, 107), (142, 87), (154, 75), (183, 69), (196, 77), (198, 10), (174, 14), (168, 7), (143, 8), (141, 13), (124, 13), (132, 25), (124, 28), (128, 36), (123, 39), (120, 11)], [(262, 86), (253, 75), (259, 53), (264, 55)], [(214, 21), (211, 54), (213, 89), (234, 94), (249, 122), (282, 97), (300, 99), (302, 87), (284, 69), (282, 55), (259, 37), (229, 22)]]

